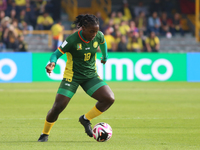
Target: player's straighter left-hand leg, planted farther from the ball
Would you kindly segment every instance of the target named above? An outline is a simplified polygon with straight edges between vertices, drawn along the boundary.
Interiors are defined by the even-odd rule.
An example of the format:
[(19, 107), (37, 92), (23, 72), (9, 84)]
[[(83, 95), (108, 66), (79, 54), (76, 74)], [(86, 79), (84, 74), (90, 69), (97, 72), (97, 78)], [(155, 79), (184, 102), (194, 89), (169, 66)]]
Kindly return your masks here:
[(48, 135), (51, 131), (51, 128), (53, 127), (55, 121), (58, 119), (59, 114), (69, 103), (78, 86), (79, 84), (76, 82), (68, 82), (65, 79), (62, 80), (53, 107), (47, 114), (42, 134), (38, 139), (39, 142), (46, 142), (48, 140)]

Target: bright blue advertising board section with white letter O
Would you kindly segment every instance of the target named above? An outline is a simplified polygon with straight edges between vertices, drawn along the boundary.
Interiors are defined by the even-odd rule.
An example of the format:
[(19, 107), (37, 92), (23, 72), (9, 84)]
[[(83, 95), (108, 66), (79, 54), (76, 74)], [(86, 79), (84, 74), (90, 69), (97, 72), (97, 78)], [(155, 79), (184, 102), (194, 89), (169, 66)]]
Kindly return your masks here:
[(0, 53), (0, 82), (32, 82), (32, 53)]

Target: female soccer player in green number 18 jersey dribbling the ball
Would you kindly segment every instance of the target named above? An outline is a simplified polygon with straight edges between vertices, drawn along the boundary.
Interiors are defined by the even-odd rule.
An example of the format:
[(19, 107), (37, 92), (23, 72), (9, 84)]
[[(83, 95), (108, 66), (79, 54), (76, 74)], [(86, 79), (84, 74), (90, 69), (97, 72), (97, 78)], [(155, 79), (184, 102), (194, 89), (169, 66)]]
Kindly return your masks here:
[(90, 121), (106, 111), (114, 102), (113, 92), (99, 78), (95, 66), (98, 46), (102, 51), (101, 63), (105, 64), (108, 57), (106, 41), (103, 33), (99, 31), (98, 19), (94, 15), (79, 15), (74, 23), (78, 28), (81, 27), (82, 29), (70, 35), (62, 43), (51, 55), (50, 63), (46, 66), (46, 71), (50, 75), (58, 58), (66, 53), (67, 63), (63, 80), (57, 91), (53, 107), (46, 116), (44, 129), (38, 139), (39, 142), (48, 141), (52, 126), (75, 94), (79, 85), (88, 95), (98, 101), (89, 112), (79, 118), (79, 122), (90, 137), (93, 137)]

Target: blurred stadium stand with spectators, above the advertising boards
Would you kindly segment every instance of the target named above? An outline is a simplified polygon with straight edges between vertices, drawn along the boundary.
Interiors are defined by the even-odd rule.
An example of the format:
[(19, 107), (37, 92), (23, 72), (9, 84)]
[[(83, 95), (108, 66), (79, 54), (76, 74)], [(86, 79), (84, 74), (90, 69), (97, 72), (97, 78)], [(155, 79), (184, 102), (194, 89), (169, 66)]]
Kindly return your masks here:
[[(62, 31), (60, 26), (63, 26), (65, 30), (59, 33), (59, 39), (66, 38), (76, 31), (71, 24), (81, 13), (98, 16), (101, 31), (115, 40), (112, 42), (113, 50), (109, 49), (109, 51), (147, 51), (145, 41), (153, 28), (156, 29), (154, 32), (159, 38), (159, 52), (200, 51), (199, 44), (193, 37), (194, 2), (190, 0), (184, 0), (184, 3), (182, 0), (93, 0), (87, 2), (59, 0), (56, 4), (54, 0), (23, 0), (22, 2), (8, 0), (7, 5), (5, 1), (3, 2), (4, 5), (0, 6), (0, 33), (2, 35), (0, 51), (20, 51), (19, 43), (22, 41), (19, 39), (24, 39), (27, 51), (53, 51), (55, 42), (57, 44), (61, 42), (61, 40), (58, 41), (57, 35), (55, 36), (57, 31)], [(54, 6), (57, 10), (60, 8), (60, 12), (55, 13)], [(160, 24), (154, 24), (151, 27), (150, 25), (154, 23), (154, 18), (151, 17), (153, 12), (157, 12), (157, 22)], [(45, 14), (49, 14), (46, 20)], [(55, 26), (58, 27), (59, 20), (61, 20), (60, 29), (57, 30)], [(16, 48), (10, 47), (9, 38), (4, 36), (9, 29), (8, 26), (13, 26), (14, 21), (18, 22), (13, 32)], [(42, 21), (44, 21), (43, 25)], [(178, 34), (175, 34), (177, 32)], [(126, 49), (119, 50), (119, 43), (120, 47), (124, 47), (126, 43)]]

